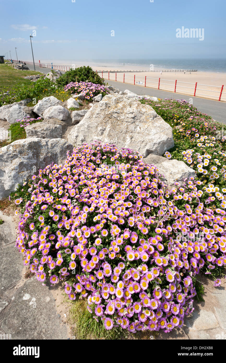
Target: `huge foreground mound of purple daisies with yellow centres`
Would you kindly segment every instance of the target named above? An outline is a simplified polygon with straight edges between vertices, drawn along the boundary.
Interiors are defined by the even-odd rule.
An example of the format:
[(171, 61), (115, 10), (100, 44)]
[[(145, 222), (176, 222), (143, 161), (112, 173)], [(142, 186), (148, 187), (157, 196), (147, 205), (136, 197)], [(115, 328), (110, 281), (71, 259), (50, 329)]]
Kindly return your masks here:
[(12, 193), (16, 246), (42, 284), (65, 281), (107, 330), (170, 332), (193, 311), (194, 276), (226, 264), (225, 205), (206, 206), (202, 186), (169, 190), (136, 152), (83, 144)]

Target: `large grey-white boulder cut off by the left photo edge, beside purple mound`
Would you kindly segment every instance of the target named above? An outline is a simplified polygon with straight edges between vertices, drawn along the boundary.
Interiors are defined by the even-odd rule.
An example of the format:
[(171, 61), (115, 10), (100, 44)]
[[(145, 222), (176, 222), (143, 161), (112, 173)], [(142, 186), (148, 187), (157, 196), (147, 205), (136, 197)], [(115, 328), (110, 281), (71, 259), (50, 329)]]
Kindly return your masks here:
[(64, 139), (20, 139), (0, 148), (0, 199), (52, 163), (64, 164), (73, 146)]

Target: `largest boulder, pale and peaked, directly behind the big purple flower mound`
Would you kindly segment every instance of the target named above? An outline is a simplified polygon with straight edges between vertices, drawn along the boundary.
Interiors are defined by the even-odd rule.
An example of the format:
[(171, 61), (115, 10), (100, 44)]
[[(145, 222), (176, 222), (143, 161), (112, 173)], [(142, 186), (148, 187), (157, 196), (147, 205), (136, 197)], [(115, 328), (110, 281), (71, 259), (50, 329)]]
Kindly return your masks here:
[(174, 146), (172, 128), (151, 106), (118, 94), (104, 96), (68, 134), (68, 141), (76, 146), (94, 140), (131, 148), (143, 156), (162, 155)]

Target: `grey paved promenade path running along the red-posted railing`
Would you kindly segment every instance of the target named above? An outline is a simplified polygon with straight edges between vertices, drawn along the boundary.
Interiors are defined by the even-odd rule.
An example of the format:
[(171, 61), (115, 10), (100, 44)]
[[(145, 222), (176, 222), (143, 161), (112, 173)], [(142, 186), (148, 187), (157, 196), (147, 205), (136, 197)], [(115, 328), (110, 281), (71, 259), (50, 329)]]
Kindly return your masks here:
[[(28, 64), (27, 66), (30, 70), (34, 70), (33, 65)], [(36, 67), (35, 69), (38, 72), (42, 72), (42, 73), (49, 73), (51, 71), (50, 68)], [(65, 72), (61, 71), (61, 73), (65, 73)], [(154, 97), (158, 97), (158, 98), (185, 99), (188, 102), (192, 98), (193, 105), (195, 107), (197, 107), (198, 111), (208, 114), (211, 117), (213, 117), (214, 120), (226, 125), (226, 102), (225, 101), (214, 101), (212, 99), (206, 99), (206, 98), (201, 98), (201, 97), (194, 97), (192, 95), (183, 95), (180, 93), (162, 91), (162, 90), (157, 90), (155, 88), (149, 88), (149, 87), (138, 86), (138, 85), (130, 85), (127, 83), (116, 82), (116, 81), (108, 81), (108, 79), (106, 79), (106, 82), (108, 82), (110, 85), (120, 89), (120, 91), (124, 91), (125, 89), (128, 89), (139, 95), (146, 94), (146, 95), (154, 96)]]

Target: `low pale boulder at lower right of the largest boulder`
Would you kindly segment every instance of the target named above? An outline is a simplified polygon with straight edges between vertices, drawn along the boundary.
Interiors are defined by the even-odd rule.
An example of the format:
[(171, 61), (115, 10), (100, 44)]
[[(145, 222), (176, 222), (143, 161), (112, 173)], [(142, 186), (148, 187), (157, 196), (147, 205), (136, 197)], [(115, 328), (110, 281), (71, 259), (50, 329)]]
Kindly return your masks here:
[(163, 156), (149, 154), (147, 158), (142, 160), (146, 164), (155, 165), (159, 174), (164, 175), (162, 178), (168, 187), (173, 187), (176, 181), (182, 182), (185, 178), (195, 176), (195, 171), (189, 168), (183, 161), (175, 159), (163, 158)]

